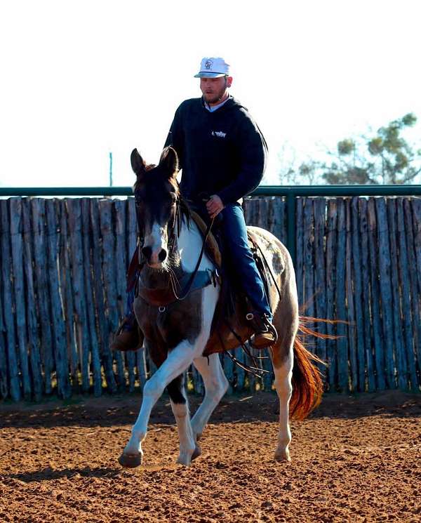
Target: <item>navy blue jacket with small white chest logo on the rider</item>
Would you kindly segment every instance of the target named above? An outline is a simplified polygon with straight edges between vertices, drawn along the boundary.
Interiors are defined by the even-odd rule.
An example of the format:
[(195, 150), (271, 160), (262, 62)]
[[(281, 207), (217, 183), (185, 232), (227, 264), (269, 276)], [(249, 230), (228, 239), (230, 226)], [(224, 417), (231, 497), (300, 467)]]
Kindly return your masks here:
[(178, 153), (181, 191), (199, 201), (218, 194), (223, 204), (250, 194), (263, 178), (267, 145), (246, 107), (230, 97), (209, 112), (203, 98), (182, 102), (166, 140)]

